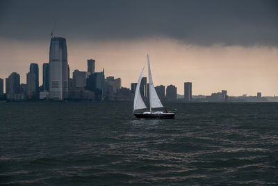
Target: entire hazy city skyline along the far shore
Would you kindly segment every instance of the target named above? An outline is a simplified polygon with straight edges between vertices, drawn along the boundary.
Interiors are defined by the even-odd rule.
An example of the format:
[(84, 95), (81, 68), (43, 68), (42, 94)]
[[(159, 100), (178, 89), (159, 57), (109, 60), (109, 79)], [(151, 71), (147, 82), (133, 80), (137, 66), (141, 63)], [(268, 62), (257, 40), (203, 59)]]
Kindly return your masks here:
[[(12, 72), (6, 78), (6, 92), (4, 93), (4, 80), (0, 78), (1, 101), (26, 100), (84, 100), (84, 101), (131, 101), (134, 98), (137, 83), (130, 87), (122, 87), (120, 77), (105, 76), (105, 70), (95, 72), (97, 61), (87, 60), (87, 71), (74, 70), (70, 78), (70, 65), (67, 63), (67, 43), (65, 38), (53, 37), (49, 48), (49, 63), (42, 65), (42, 85), (39, 84), (39, 65), (31, 63), (26, 73), (26, 84), (20, 81), (20, 75)], [(85, 63), (85, 61), (84, 61)], [(142, 78), (140, 93), (144, 99), (148, 98), (147, 77)], [(263, 97), (261, 92), (256, 96), (229, 96), (227, 90), (211, 95), (192, 95), (193, 82), (184, 82), (184, 94), (177, 94), (177, 87), (156, 86), (158, 97), (163, 102), (277, 102), (278, 98)]]

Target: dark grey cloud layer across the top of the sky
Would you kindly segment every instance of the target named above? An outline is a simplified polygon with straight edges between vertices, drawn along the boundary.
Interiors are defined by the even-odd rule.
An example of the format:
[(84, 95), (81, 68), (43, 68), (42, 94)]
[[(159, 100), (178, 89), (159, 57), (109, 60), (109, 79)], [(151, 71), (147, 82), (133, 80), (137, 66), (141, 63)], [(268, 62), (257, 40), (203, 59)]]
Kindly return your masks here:
[(1, 1), (0, 38), (278, 46), (278, 1)]

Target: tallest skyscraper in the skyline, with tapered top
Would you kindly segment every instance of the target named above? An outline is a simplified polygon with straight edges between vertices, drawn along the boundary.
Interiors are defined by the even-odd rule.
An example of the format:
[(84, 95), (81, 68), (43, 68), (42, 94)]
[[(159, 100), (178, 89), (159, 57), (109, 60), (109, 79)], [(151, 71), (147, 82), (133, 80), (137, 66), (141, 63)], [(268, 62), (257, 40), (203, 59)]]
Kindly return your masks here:
[(51, 38), (49, 48), (49, 98), (64, 100), (68, 94), (69, 66), (65, 38)]

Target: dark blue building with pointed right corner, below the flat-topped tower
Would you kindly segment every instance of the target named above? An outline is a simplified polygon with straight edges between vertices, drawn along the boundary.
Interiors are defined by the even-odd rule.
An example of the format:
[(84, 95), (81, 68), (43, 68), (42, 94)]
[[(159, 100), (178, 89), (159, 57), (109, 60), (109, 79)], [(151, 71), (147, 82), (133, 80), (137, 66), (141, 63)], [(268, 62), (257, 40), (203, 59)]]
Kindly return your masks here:
[(95, 100), (104, 100), (104, 70), (88, 77), (86, 90), (95, 92)]

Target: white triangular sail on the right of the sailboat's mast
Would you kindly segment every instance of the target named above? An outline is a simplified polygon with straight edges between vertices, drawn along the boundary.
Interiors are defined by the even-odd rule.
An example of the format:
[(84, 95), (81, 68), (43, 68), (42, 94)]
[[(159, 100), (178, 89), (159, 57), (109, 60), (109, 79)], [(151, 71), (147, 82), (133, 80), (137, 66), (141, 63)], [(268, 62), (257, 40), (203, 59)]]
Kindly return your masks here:
[(152, 82), (152, 72), (149, 65), (149, 54), (147, 55), (147, 61), (149, 66), (149, 109), (152, 111), (152, 108), (161, 108), (163, 105), (161, 104), (161, 100), (159, 100), (156, 89), (154, 88), (154, 82)]

